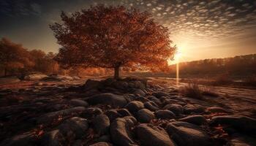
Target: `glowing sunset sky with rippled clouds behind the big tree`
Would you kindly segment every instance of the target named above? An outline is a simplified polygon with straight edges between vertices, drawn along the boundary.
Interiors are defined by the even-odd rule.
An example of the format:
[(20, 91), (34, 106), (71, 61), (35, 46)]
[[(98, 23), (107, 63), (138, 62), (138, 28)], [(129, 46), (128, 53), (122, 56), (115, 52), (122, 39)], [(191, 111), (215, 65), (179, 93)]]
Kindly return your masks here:
[(61, 11), (97, 4), (150, 12), (169, 28), (179, 61), (256, 53), (256, 0), (0, 0), (0, 38), (57, 53), (49, 25), (61, 22)]

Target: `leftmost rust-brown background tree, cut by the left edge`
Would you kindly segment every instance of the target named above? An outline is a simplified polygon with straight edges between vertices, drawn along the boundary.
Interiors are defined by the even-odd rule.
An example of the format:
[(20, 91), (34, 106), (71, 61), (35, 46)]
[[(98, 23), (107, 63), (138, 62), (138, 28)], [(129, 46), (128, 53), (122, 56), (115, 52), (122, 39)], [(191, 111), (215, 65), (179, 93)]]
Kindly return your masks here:
[(20, 69), (31, 66), (29, 52), (22, 45), (15, 44), (9, 39), (0, 41), (0, 67), (4, 69), (4, 76), (10, 69)]

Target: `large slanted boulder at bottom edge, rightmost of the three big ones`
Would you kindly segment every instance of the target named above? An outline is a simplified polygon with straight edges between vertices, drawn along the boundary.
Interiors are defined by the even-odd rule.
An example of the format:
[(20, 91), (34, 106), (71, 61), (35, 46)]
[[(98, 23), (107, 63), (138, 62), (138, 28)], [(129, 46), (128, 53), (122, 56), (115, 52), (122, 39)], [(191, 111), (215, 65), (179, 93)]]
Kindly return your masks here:
[(208, 146), (210, 137), (199, 126), (186, 122), (167, 124), (167, 133), (178, 146)]

